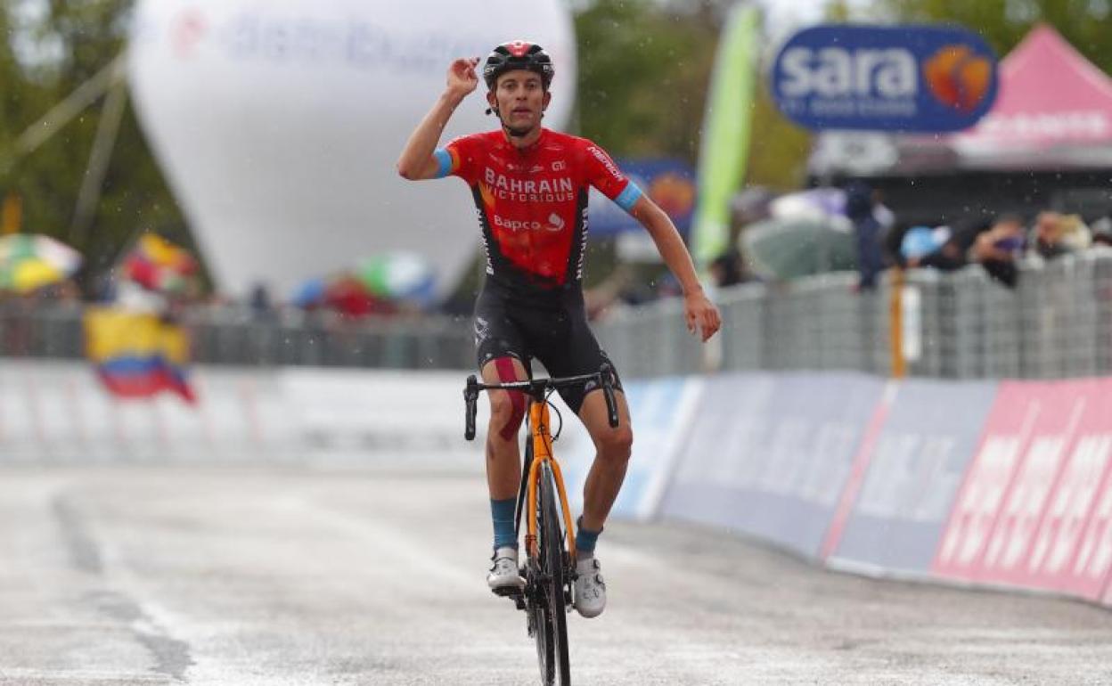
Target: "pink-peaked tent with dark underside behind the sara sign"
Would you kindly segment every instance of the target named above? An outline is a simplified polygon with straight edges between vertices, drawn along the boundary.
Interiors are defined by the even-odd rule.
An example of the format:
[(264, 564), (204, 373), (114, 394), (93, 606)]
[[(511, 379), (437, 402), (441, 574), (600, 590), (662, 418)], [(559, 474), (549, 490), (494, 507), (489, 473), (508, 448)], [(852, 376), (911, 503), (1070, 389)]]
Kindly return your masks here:
[(893, 207), (924, 219), (940, 207), (985, 215), (1052, 205), (1084, 211), (1079, 205), (1106, 195), (1112, 79), (1048, 24), (1001, 60), (999, 79), (993, 107), (965, 131), (817, 135), (812, 178), (872, 179)]

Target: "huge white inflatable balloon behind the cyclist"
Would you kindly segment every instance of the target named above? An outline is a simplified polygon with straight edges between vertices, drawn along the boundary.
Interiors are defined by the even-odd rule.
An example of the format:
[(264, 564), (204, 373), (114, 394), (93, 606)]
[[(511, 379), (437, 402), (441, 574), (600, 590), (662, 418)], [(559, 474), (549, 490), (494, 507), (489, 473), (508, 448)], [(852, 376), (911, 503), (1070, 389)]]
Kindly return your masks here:
[[(419, 252), (454, 286), (479, 245), (467, 187), (395, 162), (456, 57), (507, 40), (556, 64), (546, 126), (573, 106), (563, 0), (140, 0), (128, 78), (140, 122), (218, 285), (290, 292), (361, 256)], [(497, 126), (485, 87), (441, 142)]]

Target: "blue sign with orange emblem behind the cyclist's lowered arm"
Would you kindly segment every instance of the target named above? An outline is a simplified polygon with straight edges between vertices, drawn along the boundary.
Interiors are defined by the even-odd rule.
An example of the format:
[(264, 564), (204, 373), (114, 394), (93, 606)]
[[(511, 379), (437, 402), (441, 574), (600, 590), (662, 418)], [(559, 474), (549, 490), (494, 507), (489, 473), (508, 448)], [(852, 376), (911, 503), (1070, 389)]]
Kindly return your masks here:
[[(663, 209), (684, 236), (695, 209), (695, 175), (673, 159), (619, 159), (618, 167)], [(590, 190), (590, 235), (614, 236), (641, 230), (637, 220), (595, 189)]]

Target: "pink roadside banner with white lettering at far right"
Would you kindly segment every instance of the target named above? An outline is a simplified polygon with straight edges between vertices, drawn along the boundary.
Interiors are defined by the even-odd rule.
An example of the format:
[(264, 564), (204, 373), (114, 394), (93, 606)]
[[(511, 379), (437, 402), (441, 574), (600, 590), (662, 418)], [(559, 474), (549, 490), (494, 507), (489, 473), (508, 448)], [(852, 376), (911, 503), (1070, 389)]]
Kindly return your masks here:
[(1112, 379), (1003, 382), (933, 570), (1100, 600), (1110, 569)]

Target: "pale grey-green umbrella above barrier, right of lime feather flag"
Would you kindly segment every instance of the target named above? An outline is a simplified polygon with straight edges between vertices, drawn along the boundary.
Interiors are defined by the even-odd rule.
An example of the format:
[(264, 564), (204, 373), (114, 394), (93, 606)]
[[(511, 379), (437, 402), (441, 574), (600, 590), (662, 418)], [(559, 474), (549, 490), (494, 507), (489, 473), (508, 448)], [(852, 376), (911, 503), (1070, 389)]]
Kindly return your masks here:
[(768, 279), (856, 268), (853, 236), (840, 223), (821, 219), (768, 219), (741, 236), (753, 270)]

